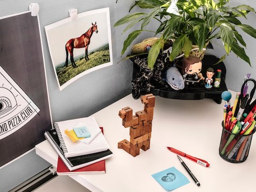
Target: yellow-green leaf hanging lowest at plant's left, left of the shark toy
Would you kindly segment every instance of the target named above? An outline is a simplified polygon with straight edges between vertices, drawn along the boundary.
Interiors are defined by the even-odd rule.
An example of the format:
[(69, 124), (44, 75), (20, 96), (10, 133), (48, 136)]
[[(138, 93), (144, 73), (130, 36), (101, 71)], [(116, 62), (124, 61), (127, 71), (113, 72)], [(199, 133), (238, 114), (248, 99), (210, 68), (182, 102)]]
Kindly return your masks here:
[(156, 42), (151, 46), (151, 49), (149, 50), (149, 53), (148, 53), (148, 67), (150, 69), (154, 68), (158, 54), (160, 53), (160, 50), (163, 49), (163, 47), (164, 47), (164, 43), (162, 39), (159, 39), (158, 42)]

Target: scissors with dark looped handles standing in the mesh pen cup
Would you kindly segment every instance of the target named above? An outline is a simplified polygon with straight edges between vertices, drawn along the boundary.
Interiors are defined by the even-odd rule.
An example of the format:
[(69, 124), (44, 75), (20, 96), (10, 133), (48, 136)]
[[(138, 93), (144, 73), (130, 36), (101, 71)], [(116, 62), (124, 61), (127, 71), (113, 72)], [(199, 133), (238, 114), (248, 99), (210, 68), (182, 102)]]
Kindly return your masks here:
[[(253, 89), (252, 89), (252, 91), (251, 91), (251, 93), (250, 93), (250, 97), (249, 97), (249, 99), (248, 99), (248, 96), (249, 96), (249, 94), (246, 94), (247, 96), (245, 96), (245, 97), (243, 97), (243, 95), (244, 95), (244, 86), (247, 84), (247, 82), (248, 81), (252, 81), (253, 82), (253, 84), (254, 84), (254, 86), (253, 86)], [(256, 100), (255, 101), (253, 101), (253, 103), (250, 105), (250, 103), (251, 103), (251, 101), (252, 101), (252, 98), (253, 98), (253, 95), (254, 95), (254, 92), (255, 92), (255, 89), (256, 89), (256, 81), (253, 79), (253, 78), (248, 78), (248, 79), (246, 79), (245, 81), (244, 81), (244, 83), (243, 83), (243, 85), (242, 85), (242, 88), (241, 88), (241, 103), (242, 102), (246, 102), (246, 101), (243, 101), (244, 99), (246, 99), (247, 100), (247, 102), (246, 102), (246, 104), (245, 104), (245, 108), (244, 108), (244, 113), (246, 113), (246, 114), (249, 114), (249, 112), (252, 110), (252, 108), (255, 106), (255, 104), (256, 104)]]

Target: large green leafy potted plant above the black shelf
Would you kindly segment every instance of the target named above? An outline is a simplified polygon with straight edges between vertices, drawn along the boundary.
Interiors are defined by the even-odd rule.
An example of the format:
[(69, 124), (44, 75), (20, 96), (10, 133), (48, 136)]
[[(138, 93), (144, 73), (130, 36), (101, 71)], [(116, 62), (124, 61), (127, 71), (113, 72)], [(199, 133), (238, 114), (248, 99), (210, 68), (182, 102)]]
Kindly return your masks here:
[(151, 20), (157, 20), (159, 26), (154, 35), (159, 34), (159, 41), (155, 43), (148, 53), (148, 66), (154, 67), (156, 58), (164, 43), (173, 39), (170, 60), (174, 60), (181, 51), (185, 53), (184, 57), (188, 57), (192, 45), (197, 45), (199, 50), (206, 47), (206, 44), (212, 39), (220, 38), (225, 54), (220, 61), (226, 58), (226, 55), (233, 51), (238, 57), (249, 63), (251, 62), (246, 55), (244, 48), (246, 43), (243, 37), (238, 33), (238, 28), (242, 29), (246, 34), (256, 38), (256, 29), (249, 25), (243, 24), (238, 18), (246, 18), (249, 12), (255, 13), (254, 9), (247, 5), (239, 5), (237, 7), (229, 7), (229, 1), (224, 0), (139, 0), (131, 7), (135, 6), (142, 9), (150, 9), (151, 12), (135, 12), (130, 13), (118, 20), (115, 26), (127, 24), (123, 33), (141, 22), (141, 27), (134, 30), (128, 35), (124, 41), (122, 55), (127, 47), (131, 45)]

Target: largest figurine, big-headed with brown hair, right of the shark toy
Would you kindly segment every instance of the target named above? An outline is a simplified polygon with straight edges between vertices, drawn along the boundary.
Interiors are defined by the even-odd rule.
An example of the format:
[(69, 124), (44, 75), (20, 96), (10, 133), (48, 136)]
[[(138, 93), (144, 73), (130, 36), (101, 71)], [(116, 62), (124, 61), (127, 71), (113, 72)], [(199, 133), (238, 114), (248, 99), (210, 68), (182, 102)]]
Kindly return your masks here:
[(204, 77), (201, 73), (202, 61), (194, 56), (189, 56), (182, 60), (182, 74), (185, 79), (185, 84), (199, 83)]

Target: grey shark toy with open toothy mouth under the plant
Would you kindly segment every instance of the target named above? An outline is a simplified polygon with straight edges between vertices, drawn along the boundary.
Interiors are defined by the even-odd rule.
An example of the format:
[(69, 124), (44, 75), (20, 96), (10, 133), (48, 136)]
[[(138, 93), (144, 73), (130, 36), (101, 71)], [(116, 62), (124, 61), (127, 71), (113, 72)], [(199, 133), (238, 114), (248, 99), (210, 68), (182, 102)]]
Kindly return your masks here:
[(176, 67), (170, 67), (166, 70), (166, 82), (174, 90), (182, 90), (185, 87), (184, 79)]

